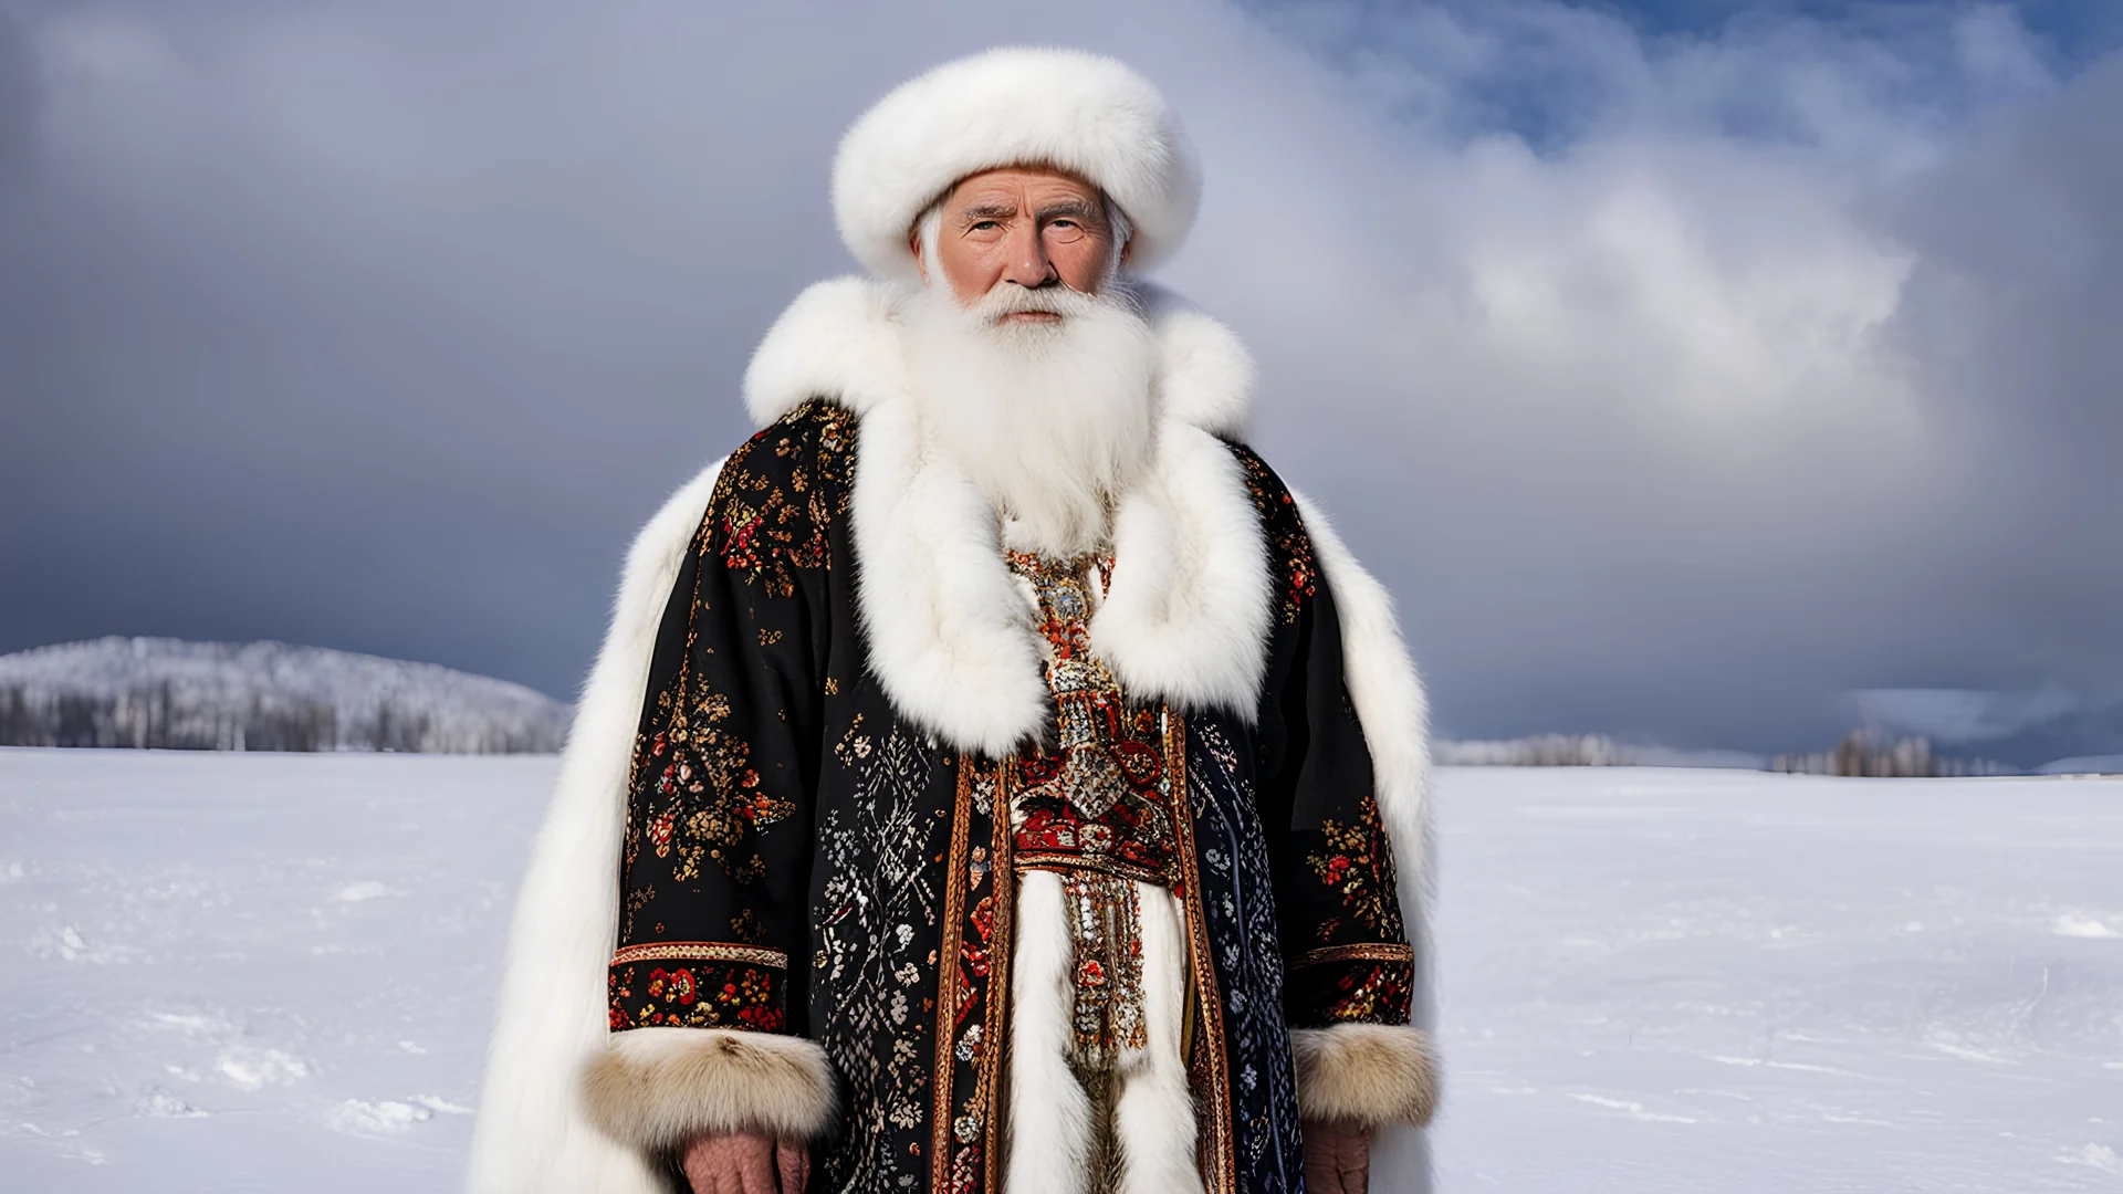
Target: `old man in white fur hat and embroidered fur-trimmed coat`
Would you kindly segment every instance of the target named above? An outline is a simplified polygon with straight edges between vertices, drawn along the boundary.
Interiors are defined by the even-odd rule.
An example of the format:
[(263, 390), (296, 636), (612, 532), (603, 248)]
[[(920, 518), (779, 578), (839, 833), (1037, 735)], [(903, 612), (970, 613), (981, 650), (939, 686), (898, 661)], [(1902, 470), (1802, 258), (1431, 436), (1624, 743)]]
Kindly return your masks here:
[(471, 1190), (1422, 1181), (1422, 693), (1142, 276), (1193, 155), (991, 51), (834, 166), (866, 278), (650, 521), (510, 941)]

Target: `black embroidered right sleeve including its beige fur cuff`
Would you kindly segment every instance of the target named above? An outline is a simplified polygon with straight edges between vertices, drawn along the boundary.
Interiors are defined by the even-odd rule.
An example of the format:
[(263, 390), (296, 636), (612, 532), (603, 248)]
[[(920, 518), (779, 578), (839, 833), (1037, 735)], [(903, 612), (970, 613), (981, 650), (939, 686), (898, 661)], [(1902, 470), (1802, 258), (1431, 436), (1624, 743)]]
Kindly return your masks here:
[[(1365, 722), (1350, 697), (1344, 618), (1295, 497), (1240, 448), (1276, 584), (1259, 712), (1261, 820), (1282, 939), (1299, 1109), (1365, 1126), (1427, 1122), (1429, 1041), (1412, 1024), (1416, 933)], [(1422, 733), (1420, 724), (1393, 727)]]

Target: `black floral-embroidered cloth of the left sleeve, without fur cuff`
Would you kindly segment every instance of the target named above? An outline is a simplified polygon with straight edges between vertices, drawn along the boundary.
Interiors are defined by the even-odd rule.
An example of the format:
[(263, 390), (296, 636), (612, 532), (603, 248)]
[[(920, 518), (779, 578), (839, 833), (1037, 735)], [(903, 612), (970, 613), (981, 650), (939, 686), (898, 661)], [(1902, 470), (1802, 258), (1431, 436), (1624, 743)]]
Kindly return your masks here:
[(743, 669), (800, 642), (800, 629), (786, 631), (807, 612), (775, 597), (830, 567), (851, 450), (853, 416), (811, 404), (754, 436), (715, 480), (635, 735), (620, 950), (607, 971), (616, 1030), (786, 1030), (788, 958), (769, 941), (800, 939), (802, 924), (758, 888), (769, 856), (779, 865), (796, 843), (775, 826), (802, 820), (807, 795), (792, 782), (792, 744), (777, 737), (775, 714), (788, 710), (747, 701)]

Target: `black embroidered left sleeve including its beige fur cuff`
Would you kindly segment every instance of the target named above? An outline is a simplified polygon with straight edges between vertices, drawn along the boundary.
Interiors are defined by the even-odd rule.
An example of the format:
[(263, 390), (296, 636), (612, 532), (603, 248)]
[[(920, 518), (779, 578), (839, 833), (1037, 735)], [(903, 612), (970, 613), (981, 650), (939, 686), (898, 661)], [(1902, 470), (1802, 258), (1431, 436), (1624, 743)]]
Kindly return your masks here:
[(815, 1137), (832, 1069), (802, 1039), (826, 695), (828, 527), (853, 425), (805, 406), (718, 478), (664, 605), (628, 773), (611, 1043), (584, 1077), (611, 1137)]

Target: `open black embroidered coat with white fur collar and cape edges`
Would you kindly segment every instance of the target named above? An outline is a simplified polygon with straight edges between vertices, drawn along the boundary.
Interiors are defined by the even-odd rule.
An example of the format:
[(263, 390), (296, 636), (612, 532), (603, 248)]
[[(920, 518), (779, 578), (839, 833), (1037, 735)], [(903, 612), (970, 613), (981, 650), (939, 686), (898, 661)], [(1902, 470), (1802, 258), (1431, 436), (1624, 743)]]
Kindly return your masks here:
[[(1053, 705), (994, 514), (921, 450), (894, 304), (800, 297), (747, 376), (762, 431), (635, 548), (518, 907), (473, 1190), (656, 1190), (739, 1126), (809, 1137), (813, 1190), (1000, 1188), (1006, 814)], [(1236, 340), (1155, 312), (1159, 463), (1091, 642), (1176, 809), (1206, 1190), (1295, 1192), (1299, 1118), (1386, 1130), (1435, 1096), (1422, 699), (1376, 582), (1238, 438)], [(1422, 1169), (1414, 1128), (1378, 1139), (1374, 1190)]]

